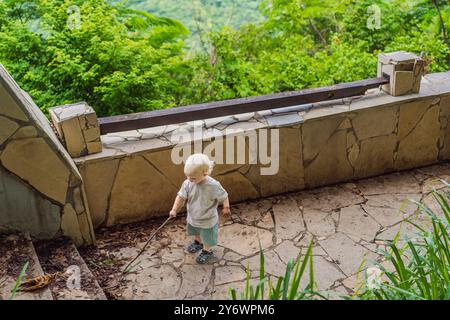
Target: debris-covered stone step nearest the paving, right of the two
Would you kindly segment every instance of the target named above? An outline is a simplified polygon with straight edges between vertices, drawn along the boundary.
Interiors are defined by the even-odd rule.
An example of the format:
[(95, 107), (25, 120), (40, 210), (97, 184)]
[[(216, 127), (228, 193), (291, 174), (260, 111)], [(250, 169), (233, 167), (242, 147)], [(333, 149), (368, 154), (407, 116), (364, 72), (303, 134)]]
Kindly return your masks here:
[(55, 300), (107, 300), (75, 245), (66, 238), (35, 242), (45, 273), (61, 272), (50, 285)]

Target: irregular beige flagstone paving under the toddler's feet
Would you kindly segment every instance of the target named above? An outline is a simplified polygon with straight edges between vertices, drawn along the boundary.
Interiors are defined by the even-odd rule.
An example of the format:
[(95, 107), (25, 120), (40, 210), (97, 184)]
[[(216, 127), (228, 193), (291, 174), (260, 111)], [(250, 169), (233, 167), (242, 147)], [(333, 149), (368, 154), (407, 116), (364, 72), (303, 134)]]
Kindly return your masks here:
[[(427, 225), (408, 199), (435, 206), (430, 192), (444, 187), (440, 179), (450, 180), (449, 163), (234, 205), (232, 219), (221, 219), (218, 261), (211, 265), (197, 265), (195, 255), (183, 250), (190, 239), (181, 216), (148, 246), (126, 284), (110, 294), (119, 299), (226, 299), (230, 287), (244, 288), (247, 266), (257, 282), (259, 242), (265, 270), (276, 278), (311, 239), (319, 290), (351, 294), (363, 270), (382, 261), (377, 249), (385, 240), (399, 229), (402, 236), (414, 235), (405, 218)], [(142, 245), (110, 254), (131, 259)]]

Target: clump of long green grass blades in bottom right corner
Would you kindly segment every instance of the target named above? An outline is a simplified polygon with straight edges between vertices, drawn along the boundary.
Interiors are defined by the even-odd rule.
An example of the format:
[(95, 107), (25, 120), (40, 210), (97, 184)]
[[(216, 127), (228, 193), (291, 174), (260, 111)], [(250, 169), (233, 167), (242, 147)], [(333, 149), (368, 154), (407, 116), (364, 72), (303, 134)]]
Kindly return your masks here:
[(449, 300), (450, 299), (450, 193), (432, 192), (439, 212), (417, 203), (422, 215), (431, 222), (430, 230), (414, 224), (417, 237), (398, 247), (397, 239), (382, 251), (389, 267), (380, 263), (385, 280), (365, 288), (357, 298), (377, 300)]

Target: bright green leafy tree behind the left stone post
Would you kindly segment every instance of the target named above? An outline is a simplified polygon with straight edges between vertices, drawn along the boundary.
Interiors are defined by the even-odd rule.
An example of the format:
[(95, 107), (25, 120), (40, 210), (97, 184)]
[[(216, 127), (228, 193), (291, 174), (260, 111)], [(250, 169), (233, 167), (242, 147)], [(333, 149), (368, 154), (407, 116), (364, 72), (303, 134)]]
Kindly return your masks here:
[(186, 28), (103, 0), (76, 3), (8, 1), (2, 10), (0, 61), (42, 110), (80, 100), (100, 115), (173, 106)]

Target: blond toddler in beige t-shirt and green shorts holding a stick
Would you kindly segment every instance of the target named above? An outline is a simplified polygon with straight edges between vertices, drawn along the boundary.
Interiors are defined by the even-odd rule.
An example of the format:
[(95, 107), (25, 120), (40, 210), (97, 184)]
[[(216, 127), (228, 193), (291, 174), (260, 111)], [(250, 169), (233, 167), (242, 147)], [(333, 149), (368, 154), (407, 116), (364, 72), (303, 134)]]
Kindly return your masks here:
[(228, 193), (219, 181), (210, 177), (214, 163), (208, 156), (196, 153), (189, 156), (184, 166), (187, 179), (183, 182), (180, 191), (170, 211), (171, 217), (187, 201), (187, 234), (194, 236), (186, 250), (189, 253), (201, 251), (196, 261), (199, 264), (215, 260), (211, 247), (217, 245), (219, 231), (219, 215), (217, 207), (223, 203), (222, 213), (230, 215)]

